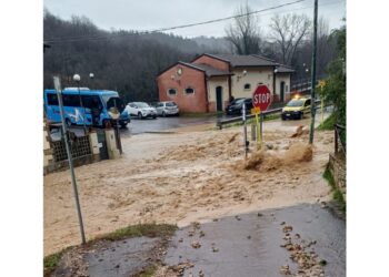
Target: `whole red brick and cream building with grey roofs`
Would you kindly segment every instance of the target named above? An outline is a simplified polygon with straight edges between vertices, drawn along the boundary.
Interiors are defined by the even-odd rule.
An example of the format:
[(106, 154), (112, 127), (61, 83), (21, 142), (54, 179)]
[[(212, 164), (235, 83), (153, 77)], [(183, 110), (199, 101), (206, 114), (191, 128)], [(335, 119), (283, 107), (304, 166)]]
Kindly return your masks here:
[(157, 76), (160, 101), (174, 101), (182, 112), (223, 111), (231, 96), (251, 98), (266, 84), (273, 102), (289, 99), (292, 69), (260, 55), (201, 54), (177, 62)]

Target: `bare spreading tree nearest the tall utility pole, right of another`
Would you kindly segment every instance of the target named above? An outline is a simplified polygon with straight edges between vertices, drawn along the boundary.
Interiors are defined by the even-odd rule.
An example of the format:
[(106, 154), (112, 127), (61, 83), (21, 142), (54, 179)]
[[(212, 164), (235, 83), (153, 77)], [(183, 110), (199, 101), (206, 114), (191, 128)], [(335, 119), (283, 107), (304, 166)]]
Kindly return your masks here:
[(282, 63), (290, 65), (296, 50), (310, 32), (311, 21), (305, 14), (277, 14), (271, 19), (270, 37), (275, 40)]

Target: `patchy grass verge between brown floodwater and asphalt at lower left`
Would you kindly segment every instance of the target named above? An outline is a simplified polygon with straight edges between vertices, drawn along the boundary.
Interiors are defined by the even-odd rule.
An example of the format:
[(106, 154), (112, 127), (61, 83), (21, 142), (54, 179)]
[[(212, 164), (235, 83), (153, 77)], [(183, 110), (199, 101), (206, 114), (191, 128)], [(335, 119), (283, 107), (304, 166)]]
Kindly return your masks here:
[[(131, 225), (121, 229), (117, 229), (112, 233), (99, 236), (94, 239), (91, 239), (87, 243), (87, 247), (93, 245), (96, 242), (99, 240), (121, 240), (124, 238), (131, 238), (131, 237), (170, 237), (174, 234), (177, 230), (176, 225), (170, 224), (137, 224)], [(43, 270), (44, 276), (50, 276), (57, 268), (59, 261), (61, 260), (64, 253), (70, 250), (71, 248), (74, 248), (76, 246), (70, 246), (68, 248), (64, 248), (58, 253), (51, 254), (49, 256), (46, 256), (43, 258)], [(144, 275), (140, 275), (142, 277), (152, 276), (152, 273), (157, 269), (156, 266), (150, 266), (146, 269)], [(153, 270), (153, 271), (152, 271)]]

